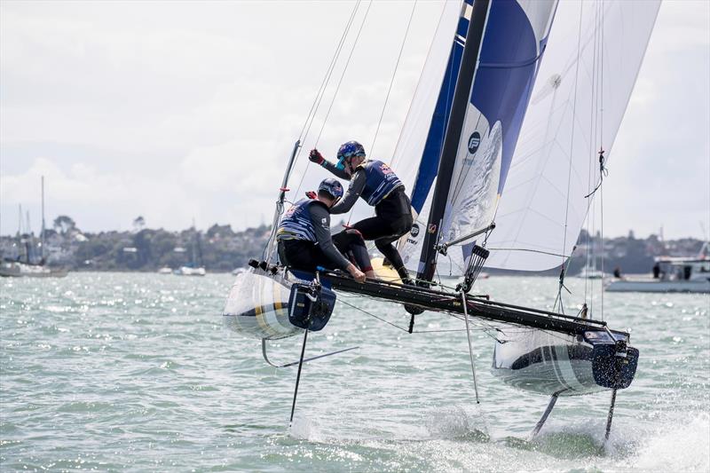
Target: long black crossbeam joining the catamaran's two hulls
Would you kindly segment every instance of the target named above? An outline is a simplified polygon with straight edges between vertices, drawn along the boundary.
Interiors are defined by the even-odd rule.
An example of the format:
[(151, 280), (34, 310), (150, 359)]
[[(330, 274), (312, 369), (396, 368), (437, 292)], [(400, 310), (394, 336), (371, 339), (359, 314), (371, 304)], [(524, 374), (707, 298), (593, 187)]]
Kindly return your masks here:
[[(349, 276), (336, 272), (321, 272), (320, 280), (343, 292), (375, 297), (398, 304), (417, 305), (428, 311), (464, 313), (460, 293), (404, 286), (378, 280), (359, 283)], [(581, 335), (588, 331), (605, 331), (607, 325), (602, 320), (580, 319), (569, 315), (557, 314), (556, 312), (488, 301), (476, 296), (466, 296), (466, 303), (470, 317), (523, 327), (540, 328), (567, 335)], [(616, 330), (614, 332), (628, 336), (625, 332)]]

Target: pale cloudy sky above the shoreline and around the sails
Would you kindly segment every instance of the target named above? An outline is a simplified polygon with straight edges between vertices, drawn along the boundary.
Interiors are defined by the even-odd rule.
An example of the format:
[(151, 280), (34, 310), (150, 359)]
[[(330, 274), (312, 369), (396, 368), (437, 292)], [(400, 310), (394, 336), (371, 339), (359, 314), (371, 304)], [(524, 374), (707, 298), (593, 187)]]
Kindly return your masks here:
[[(41, 175), (47, 217), (70, 215), (87, 231), (127, 229), (138, 215), (168, 229), (193, 217), (201, 228), (270, 221), (352, 6), (3, 1), (0, 233), (17, 230), (20, 203), (39, 229)], [(349, 139), (372, 147), (411, 8), (371, 7), (319, 138), (324, 154)], [(396, 145), (438, 12), (416, 5), (371, 155), (389, 159)], [(710, 3), (667, 1), (611, 154), (606, 235), (664, 225), (667, 238), (702, 236), (700, 222), (710, 231), (709, 84)], [(294, 190), (304, 166), (302, 155)], [(326, 176), (309, 171), (301, 194)], [(358, 207), (356, 217), (369, 211)]]

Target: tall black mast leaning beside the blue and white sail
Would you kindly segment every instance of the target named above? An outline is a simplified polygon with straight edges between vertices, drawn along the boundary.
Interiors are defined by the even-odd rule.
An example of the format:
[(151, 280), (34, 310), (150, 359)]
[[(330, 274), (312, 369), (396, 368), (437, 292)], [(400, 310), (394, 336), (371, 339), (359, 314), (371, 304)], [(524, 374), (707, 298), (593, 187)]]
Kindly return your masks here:
[(421, 270), (417, 273), (417, 280), (432, 280), (437, 266), (438, 235), (441, 232), (441, 221), (446, 211), (446, 201), (451, 187), (451, 177), (456, 163), (456, 152), (461, 141), (463, 121), (466, 119), (466, 110), (469, 106), (469, 96), (473, 76), (476, 73), (478, 54), (483, 40), (485, 20), (488, 15), (489, 0), (475, 0), (466, 34), (466, 43), (463, 45), (461, 55), (461, 68), (456, 78), (454, 100), (452, 101), (451, 114), (446, 125), (444, 145), (441, 158), (438, 162), (437, 181), (434, 186), (433, 200), (429, 213), (426, 234), (422, 244)]

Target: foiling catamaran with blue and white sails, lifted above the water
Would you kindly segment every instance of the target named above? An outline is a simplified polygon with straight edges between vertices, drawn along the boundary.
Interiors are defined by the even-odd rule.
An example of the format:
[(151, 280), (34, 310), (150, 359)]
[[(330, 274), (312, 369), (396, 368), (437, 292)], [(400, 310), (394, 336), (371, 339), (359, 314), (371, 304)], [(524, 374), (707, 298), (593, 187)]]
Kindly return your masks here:
[[(336, 292), (344, 292), (461, 319), (476, 400), (470, 327), (498, 324), (493, 374), (550, 396), (533, 436), (558, 397), (611, 390), (608, 438), (617, 390), (633, 381), (639, 351), (627, 332), (594, 318), (586, 304), (579, 312), (564, 312), (564, 275), (590, 201), (602, 193), (604, 165), (658, 10), (659, 1), (623, 0), (442, 5), (390, 162), (414, 210), (412, 231), (398, 248), (416, 272), (417, 286), (398, 280), (358, 283), (341, 272), (298, 272), (275, 260), (274, 233), (300, 156), (299, 137), (281, 184), (272, 238), (260, 260), (237, 277), (223, 312), (229, 327), (262, 340), (269, 364), (298, 366), (291, 420), (301, 368), (310, 360), (304, 358), (308, 334), (327, 324)], [(555, 306), (522, 307), (472, 294), (484, 265), (517, 271), (560, 267)], [(438, 275), (462, 280), (446, 288)], [(409, 320), (410, 334), (416, 333), (417, 317)], [(303, 335), (300, 359), (273, 363), (268, 343), (293, 335)]]

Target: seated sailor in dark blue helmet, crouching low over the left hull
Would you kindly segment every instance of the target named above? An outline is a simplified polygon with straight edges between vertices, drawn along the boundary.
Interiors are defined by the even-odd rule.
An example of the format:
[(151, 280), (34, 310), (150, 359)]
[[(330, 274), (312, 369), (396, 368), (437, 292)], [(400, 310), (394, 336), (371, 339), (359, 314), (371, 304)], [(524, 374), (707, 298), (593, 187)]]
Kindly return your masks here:
[[(372, 274), (365, 241), (359, 233), (345, 233), (337, 239), (337, 247), (330, 236), (330, 209), (343, 197), (343, 185), (333, 178), (324, 179), (314, 199), (303, 199), (288, 209), (281, 218), (276, 233), (279, 257), (283, 264), (294, 269), (313, 272), (318, 266), (341, 269), (363, 282), (366, 273), (349, 261), (350, 255), (363, 271)], [(340, 250), (339, 250), (340, 249)]]

